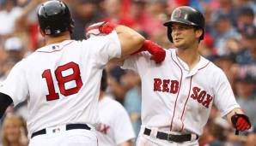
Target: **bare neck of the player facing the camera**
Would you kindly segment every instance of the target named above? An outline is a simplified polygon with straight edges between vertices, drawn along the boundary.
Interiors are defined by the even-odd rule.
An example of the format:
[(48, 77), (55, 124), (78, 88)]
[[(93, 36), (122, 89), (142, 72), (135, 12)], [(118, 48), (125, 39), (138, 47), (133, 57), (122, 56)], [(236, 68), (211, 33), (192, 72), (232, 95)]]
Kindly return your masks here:
[(187, 48), (186, 50), (178, 49), (177, 55), (182, 61), (185, 61), (188, 67), (192, 69), (200, 60), (200, 55), (198, 53), (198, 46), (193, 46), (192, 48)]

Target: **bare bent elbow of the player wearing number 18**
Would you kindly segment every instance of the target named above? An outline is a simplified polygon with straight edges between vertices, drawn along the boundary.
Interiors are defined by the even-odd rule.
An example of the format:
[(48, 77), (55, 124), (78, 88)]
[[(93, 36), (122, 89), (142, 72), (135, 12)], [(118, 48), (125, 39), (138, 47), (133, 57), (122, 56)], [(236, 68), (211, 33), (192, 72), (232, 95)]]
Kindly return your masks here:
[(145, 38), (138, 32), (127, 26), (116, 26), (115, 30), (119, 35), (122, 56), (131, 55), (142, 47)]

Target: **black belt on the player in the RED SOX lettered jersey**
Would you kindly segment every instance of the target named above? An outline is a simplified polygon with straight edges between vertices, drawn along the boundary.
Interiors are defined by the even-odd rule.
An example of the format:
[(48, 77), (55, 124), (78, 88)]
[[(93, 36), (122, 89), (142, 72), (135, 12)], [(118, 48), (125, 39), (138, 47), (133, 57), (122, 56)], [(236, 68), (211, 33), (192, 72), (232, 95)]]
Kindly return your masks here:
[[(143, 134), (150, 136), (150, 133), (151, 133), (151, 130), (148, 128), (145, 128)], [(182, 142), (191, 141), (192, 134), (173, 135), (173, 134), (164, 133), (162, 131), (157, 131), (156, 138), (162, 139), (162, 140), (167, 140), (167, 141), (172, 141), (175, 143), (182, 143)], [(198, 135), (196, 135), (196, 139), (198, 139)]]

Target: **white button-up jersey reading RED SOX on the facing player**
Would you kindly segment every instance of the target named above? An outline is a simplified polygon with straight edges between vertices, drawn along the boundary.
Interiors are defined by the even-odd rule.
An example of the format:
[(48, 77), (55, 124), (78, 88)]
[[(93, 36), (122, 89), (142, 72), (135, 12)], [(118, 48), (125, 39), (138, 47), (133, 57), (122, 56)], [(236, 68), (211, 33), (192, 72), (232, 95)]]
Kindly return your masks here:
[(143, 126), (201, 135), (213, 103), (222, 116), (240, 108), (219, 67), (200, 56), (198, 64), (190, 70), (176, 50), (166, 52), (160, 65), (143, 52), (132, 55), (123, 66), (136, 71), (142, 79)]

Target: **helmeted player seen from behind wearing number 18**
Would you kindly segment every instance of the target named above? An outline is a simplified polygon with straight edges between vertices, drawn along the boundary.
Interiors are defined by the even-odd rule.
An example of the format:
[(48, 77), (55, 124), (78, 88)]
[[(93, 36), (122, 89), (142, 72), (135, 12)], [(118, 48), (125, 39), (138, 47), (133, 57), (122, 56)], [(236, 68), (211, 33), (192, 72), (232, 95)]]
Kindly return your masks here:
[[(18, 62), (0, 85), (0, 118), (12, 102), (27, 99), (30, 146), (97, 145), (102, 69), (111, 59), (137, 51), (144, 38), (115, 26), (106, 36), (71, 40), (73, 20), (61, 1), (43, 3), (38, 19), (46, 46)], [(109, 27), (99, 24), (101, 32)]]

